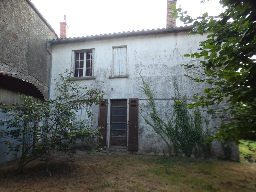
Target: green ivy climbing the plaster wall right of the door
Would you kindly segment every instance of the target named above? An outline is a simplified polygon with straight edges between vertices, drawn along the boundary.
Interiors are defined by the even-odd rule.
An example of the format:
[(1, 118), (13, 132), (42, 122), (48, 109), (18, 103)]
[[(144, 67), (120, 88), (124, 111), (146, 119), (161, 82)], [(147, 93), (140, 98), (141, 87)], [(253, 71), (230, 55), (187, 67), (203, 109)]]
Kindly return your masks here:
[(176, 156), (184, 154), (187, 157), (194, 154), (196, 157), (204, 156), (204, 158), (208, 158), (212, 143), (211, 140), (205, 141), (211, 135), (208, 124), (206, 123), (207, 129), (204, 131), (202, 115), (198, 108), (193, 111), (193, 115), (190, 114), (187, 100), (182, 99), (176, 79), (173, 80), (173, 110), (171, 113), (165, 114), (167, 121), (164, 121), (156, 108), (153, 97), (154, 90), (143, 77), (141, 78), (143, 82), (141, 90), (148, 97), (150, 118), (141, 115), (167, 144), (169, 154), (175, 154)]

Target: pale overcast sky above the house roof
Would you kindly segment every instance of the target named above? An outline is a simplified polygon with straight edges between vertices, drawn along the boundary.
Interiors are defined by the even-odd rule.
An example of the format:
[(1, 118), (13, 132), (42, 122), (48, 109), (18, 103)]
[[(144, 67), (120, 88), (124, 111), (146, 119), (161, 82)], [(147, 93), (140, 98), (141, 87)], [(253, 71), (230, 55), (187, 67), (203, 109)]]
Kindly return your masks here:
[[(68, 36), (100, 35), (166, 27), (166, 0), (31, 0), (39, 12), (60, 34), (60, 21), (66, 14)], [(204, 12), (223, 12), (219, 0), (177, 0), (177, 8), (192, 17)], [(177, 26), (181, 26), (179, 20)]]

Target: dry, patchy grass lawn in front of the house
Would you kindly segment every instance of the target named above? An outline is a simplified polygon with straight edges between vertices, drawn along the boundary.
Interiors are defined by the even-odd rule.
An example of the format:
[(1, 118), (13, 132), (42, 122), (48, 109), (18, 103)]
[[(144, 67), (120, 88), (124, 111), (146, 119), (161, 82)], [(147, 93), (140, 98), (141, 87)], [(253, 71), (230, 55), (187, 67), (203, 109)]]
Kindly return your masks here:
[(255, 191), (256, 165), (217, 160), (86, 153), (73, 162), (55, 154), (15, 174), (16, 164), (0, 167), (1, 192), (58, 191)]

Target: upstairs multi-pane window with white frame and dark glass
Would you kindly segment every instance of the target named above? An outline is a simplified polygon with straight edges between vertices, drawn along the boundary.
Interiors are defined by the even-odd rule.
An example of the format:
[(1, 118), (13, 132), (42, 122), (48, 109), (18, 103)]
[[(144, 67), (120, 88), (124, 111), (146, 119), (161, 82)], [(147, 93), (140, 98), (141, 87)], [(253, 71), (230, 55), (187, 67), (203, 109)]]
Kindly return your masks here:
[(74, 77), (93, 76), (94, 50), (75, 51)]

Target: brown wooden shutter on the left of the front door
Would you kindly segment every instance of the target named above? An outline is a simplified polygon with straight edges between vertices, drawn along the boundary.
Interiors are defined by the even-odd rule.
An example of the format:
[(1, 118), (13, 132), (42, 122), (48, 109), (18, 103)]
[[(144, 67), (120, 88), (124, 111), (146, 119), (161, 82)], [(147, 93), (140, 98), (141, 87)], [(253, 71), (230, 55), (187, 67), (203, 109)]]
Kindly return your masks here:
[(99, 127), (101, 127), (100, 131), (103, 136), (103, 139), (98, 138), (98, 143), (100, 143), (100, 147), (107, 146), (107, 120), (108, 120), (108, 100), (100, 100), (99, 106)]

